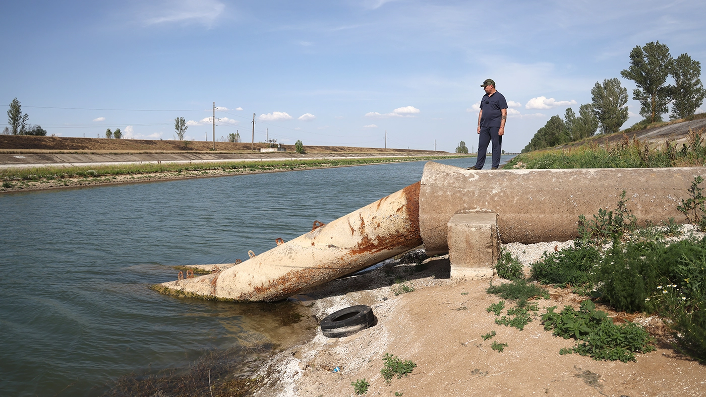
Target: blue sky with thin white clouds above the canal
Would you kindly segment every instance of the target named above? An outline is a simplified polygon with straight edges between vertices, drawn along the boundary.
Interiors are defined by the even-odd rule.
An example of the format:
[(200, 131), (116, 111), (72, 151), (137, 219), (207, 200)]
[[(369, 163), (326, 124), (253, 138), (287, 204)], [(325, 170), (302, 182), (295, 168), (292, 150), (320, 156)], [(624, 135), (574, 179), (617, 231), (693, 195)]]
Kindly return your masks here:
[[(481, 83), (508, 101), (503, 149), (578, 114), (636, 45), (706, 61), (699, 1), (12, 1), (0, 104), (49, 135), (292, 145), (477, 147)], [(706, 106), (699, 110), (705, 111)], [(664, 118), (668, 118), (664, 115)], [(0, 123), (5, 121), (1, 119)], [(6, 125), (0, 124), (0, 128)], [(385, 131), (387, 141), (385, 142)]]

